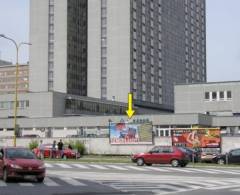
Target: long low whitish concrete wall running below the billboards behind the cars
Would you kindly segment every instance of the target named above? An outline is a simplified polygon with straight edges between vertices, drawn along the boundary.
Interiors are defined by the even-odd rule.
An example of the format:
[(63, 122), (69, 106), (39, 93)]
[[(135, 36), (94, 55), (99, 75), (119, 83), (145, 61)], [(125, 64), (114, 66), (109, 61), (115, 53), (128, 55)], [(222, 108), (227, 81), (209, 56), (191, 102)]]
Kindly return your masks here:
[[(17, 146), (28, 147), (31, 140), (43, 140), (43, 143), (52, 143), (53, 140), (57, 142), (60, 138), (17, 138)], [(90, 154), (133, 154), (138, 152), (146, 152), (154, 145), (172, 145), (171, 137), (155, 137), (154, 145), (111, 145), (109, 138), (61, 138), (63, 142), (69, 140), (81, 140)], [(0, 138), (1, 146), (12, 146), (13, 139)], [(222, 153), (229, 152), (234, 148), (240, 148), (240, 137), (222, 137)]]

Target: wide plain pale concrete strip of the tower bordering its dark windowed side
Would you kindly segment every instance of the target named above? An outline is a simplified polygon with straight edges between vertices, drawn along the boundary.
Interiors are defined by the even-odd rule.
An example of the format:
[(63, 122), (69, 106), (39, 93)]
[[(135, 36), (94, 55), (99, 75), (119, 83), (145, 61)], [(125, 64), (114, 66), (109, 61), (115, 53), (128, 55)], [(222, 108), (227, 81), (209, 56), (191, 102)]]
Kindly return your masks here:
[(127, 102), (130, 92), (130, 1), (107, 1), (107, 99)]

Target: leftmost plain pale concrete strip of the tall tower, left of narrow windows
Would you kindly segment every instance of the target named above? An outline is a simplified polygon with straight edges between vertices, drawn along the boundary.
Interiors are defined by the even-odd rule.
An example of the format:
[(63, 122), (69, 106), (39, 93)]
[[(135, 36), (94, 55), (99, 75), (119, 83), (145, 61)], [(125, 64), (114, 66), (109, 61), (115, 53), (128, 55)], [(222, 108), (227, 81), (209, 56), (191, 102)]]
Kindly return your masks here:
[(30, 1), (29, 91), (48, 91), (48, 0)]

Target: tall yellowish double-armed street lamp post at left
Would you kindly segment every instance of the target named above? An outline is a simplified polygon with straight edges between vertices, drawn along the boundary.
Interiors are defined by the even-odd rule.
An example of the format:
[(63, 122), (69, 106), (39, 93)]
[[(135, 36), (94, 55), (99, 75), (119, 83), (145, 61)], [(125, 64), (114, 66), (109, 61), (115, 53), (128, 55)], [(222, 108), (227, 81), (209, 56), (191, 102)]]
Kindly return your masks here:
[(16, 133), (17, 133), (17, 108), (18, 108), (18, 53), (19, 53), (19, 48), (22, 45), (31, 45), (30, 43), (27, 42), (20, 42), (17, 44), (17, 42), (14, 39), (11, 39), (3, 34), (0, 34), (0, 38), (7, 39), (11, 41), (15, 47), (16, 47), (16, 74), (15, 74), (15, 99), (14, 99), (14, 136), (13, 136), (13, 145), (16, 147)]

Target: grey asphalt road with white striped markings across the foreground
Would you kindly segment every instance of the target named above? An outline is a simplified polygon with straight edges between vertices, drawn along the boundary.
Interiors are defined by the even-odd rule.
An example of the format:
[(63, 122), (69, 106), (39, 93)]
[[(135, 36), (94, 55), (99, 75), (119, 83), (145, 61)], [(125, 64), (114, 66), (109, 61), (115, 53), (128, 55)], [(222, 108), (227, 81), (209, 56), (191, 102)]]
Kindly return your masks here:
[(46, 163), (47, 177), (0, 180), (0, 195), (239, 195), (240, 169)]

